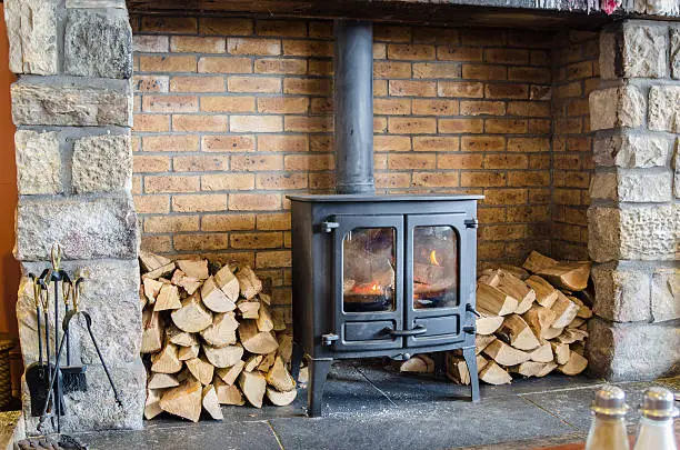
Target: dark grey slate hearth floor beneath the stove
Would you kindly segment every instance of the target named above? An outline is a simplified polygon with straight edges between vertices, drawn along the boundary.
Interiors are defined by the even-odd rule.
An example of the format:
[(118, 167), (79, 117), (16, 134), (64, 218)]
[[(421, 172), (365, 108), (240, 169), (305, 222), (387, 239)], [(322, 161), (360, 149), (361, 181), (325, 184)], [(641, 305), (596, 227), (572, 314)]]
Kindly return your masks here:
[[(224, 421), (147, 421), (142, 431), (79, 436), (90, 449), (476, 449), (518, 450), (582, 440), (589, 403), (601, 380), (549, 376), (481, 387), (471, 403), (468, 388), (444, 379), (404, 376), (381, 361), (341, 362), (326, 384), (324, 417), (304, 416), (307, 391), (289, 407), (224, 408)], [(680, 379), (662, 380), (674, 391)], [(620, 383), (638, 404), (650, 383)], [(630, 422), (636, 423), (637, 413)], [(518, 442), (521, 441), (521, 442)], [(516, 442), (500, 447), (501, 442)], [(490, 447), (484, 447), (490, 446)]]

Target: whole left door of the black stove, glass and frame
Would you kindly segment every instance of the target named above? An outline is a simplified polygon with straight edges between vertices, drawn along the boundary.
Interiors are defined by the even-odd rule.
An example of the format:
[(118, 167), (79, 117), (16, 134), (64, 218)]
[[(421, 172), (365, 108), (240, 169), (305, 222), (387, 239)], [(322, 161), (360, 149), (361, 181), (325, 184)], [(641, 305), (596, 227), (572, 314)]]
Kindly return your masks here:
[(403, 323), (403, 216), (336, 216), (336, 350), (398, 349)]

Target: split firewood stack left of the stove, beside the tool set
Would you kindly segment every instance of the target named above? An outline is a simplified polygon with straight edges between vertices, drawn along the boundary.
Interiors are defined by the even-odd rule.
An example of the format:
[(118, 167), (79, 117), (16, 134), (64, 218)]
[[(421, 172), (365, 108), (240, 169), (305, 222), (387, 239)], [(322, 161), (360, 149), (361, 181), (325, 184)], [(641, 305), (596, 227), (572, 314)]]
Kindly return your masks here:
[(220, 420), (220, 404), (294, 400), (292, 340), (250, 267), (144, 252), (140, 262), (147, 419), (166, 411), (196, 422), (204, 410)]

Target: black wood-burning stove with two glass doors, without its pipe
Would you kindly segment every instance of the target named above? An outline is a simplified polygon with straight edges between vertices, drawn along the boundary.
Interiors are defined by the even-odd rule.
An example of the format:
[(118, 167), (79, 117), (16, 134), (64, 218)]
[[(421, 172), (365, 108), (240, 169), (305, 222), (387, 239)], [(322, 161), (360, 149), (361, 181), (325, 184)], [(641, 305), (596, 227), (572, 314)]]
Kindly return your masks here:
[(290, 196), (293, 377), (309, 356), (309, 414), (333, 359), (461, 349), (474, 357), (480, 196)]

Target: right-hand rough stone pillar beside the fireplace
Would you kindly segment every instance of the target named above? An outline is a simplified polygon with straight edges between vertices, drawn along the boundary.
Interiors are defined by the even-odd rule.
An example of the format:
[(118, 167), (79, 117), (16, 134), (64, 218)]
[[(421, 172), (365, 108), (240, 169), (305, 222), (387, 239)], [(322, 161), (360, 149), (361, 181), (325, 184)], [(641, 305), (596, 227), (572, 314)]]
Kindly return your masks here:
[(588, 342), (591, 369), (609, 379), (680, 370), (679, 68), (677, 23), (626, 21), (600, 36)]

